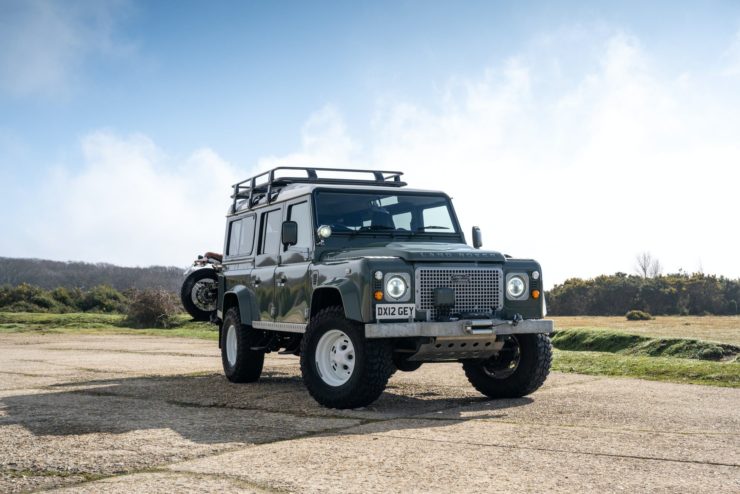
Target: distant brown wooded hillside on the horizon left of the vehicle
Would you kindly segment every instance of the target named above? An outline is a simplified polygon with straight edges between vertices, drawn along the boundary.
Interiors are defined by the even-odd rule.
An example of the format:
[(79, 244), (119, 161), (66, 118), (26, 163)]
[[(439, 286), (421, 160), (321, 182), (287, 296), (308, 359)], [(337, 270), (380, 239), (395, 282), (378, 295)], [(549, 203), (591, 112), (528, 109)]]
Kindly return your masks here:
[(119, 291), (152, 288), (177, 292), (183, 281), (182, 273), (182, 268), (171, 266), (127, 268), (104, 263), (0, 257), (0, 286), (27, 283), (49, 290), (58, 287), (90, 290), (107, 285)]

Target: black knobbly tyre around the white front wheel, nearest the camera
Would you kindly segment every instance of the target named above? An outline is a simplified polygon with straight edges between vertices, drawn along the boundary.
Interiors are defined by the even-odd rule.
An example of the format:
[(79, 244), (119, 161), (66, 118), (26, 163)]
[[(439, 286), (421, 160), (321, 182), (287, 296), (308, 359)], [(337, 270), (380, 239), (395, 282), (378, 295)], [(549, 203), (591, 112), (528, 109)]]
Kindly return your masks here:
[[(317, 346), (329, 332), (344, 333), (351, 341), (354, 367), (348, 380), (339, 385), (322, 377)], [(329, 336), (329, 335), (327, 335)], [(325, 364), (324, 364), (325, 365)], [(328, 307), (316, 314), (301, 341), (301, 373), (311, 396), (328, 408), (359, 408), (377, 400), (395, 367), (391, 346), (383, 340), (366, 340), (362, 324), (344, 317), (342, 307)]]

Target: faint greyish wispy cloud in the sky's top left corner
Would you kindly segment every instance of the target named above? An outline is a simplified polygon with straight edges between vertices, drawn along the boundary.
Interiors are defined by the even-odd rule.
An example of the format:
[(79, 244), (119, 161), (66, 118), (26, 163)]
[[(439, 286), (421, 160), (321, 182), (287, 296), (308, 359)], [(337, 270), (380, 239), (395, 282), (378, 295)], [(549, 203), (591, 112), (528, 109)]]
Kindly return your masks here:
[(115, 37), (123, 1), (10, 0), (0, 6), (0, 90), (14, 95), (68, 91), (95, 54), (122, 56), (132, 45)]

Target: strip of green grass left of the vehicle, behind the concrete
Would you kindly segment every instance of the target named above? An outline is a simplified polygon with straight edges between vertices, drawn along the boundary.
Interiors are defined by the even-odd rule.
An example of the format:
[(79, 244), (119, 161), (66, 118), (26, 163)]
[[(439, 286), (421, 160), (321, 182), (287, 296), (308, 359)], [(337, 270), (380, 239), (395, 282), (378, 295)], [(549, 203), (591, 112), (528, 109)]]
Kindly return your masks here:
[(172, 328), (161, 329), (132, 328), (126, 325), (121, 314), (0, 312), (0, 333), (133, 334), (218, 339), (216, 326), (192, 321), (186, 315), (178, 316)]

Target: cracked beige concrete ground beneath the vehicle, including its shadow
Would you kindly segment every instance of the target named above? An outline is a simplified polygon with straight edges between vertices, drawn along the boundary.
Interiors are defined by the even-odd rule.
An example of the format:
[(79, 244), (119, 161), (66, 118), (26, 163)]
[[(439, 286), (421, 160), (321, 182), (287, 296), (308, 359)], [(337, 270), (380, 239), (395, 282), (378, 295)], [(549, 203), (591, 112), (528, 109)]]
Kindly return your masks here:
[(295, 357), (259, 383), (216, 344), (0, 335), (0, 492), (740, 492), (740, 390), (552, 374), (486, 400), (457, 364), (328, 410)]

